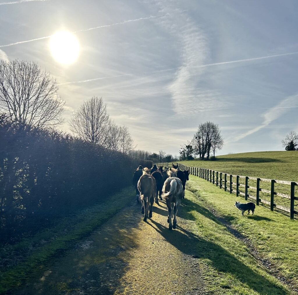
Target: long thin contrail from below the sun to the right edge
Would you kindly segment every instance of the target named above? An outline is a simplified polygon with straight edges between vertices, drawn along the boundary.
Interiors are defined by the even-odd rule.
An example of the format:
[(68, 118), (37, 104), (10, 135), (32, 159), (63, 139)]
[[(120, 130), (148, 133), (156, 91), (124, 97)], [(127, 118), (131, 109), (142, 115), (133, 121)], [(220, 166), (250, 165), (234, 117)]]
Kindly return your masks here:
[[(0, 46), (1, 47), (1, 46)], [(214, 64), (202, 64), (200, 66), (190, 66), (191, 68), (197, 68), (197, 67), (211, 67), (211, 66), (217, 66), (217, 65), (222, 65), (222, 64), (234, 64), (234, 63), (239, 63), (239, 62), (245, 62), (245, 61), (255, 61), (259, 59), (265, 59), (265, 58), (273, 58), (273, 57), (279, 57), (279, 56), (285, 56), (285, 55), (293, 55), (293, 54), (298, 54), (298, 51), (296, 52), (288, 52), (288, 53), (281, 53), (281, 54), (275, 54), (275, 55), (266, 55), (266, 56), (261, 56), (261, 57), (254, 57), (254, 58), (246, 58), (246, 59), (238, 59), (237, 61), (224, 61), (224, 62), (219, 62), (219, 63), (214, 63)], [(162, 72), (170, 72), (179, 69), (177, 68), (169, 68), (169, 69), (162, 69), (162, 70), (156, 70), (148, 73), (148, 75), (152, 75), (155, 73), (162, 73)], [(134, 74), (124, 74), (124, 75), (118, 75), (118, 76), (108, 76), (108, 77), (102, 77), (102, 78), (94, 78), (94, 79), (89, 79), (89, 80), (82, 80), (82, 81), (72, 81), (72, 82), (66, 82), (66, 83), (61, 83), (58, 85), (64, 85), (64, 84), (75, 84), (75, 83), (83, 83), (83, 82), (89, 82), (89, 81), (94, 81), (94, 80), (101, 80), (101, 79), (107, 79), (107, 78), (116, 78), (116, 77), (121, 77), (121, 76), (130, 76)]]

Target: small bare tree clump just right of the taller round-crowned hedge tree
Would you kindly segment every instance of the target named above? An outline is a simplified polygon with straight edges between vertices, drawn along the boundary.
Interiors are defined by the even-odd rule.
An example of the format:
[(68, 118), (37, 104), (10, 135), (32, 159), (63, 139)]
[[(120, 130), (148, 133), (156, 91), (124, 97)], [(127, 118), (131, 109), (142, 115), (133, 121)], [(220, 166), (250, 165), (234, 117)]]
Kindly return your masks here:
[(105, 146), (113, 151), (119, 151), (125, 154), (133, 150), (134, 140), (131, 138), (126, 126), (117, 126), (112, 123), (108, 132)]

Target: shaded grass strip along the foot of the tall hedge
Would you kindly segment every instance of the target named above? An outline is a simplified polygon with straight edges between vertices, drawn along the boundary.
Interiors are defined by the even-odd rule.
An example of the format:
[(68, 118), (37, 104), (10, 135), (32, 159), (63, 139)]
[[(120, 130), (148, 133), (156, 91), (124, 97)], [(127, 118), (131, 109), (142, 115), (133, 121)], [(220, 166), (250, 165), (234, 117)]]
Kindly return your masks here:
[[(12, 292), (32, 275), (40, 272), (47, 263), (50, 263), (51, 257), (69, 249), (75, 241), (90, 234), (111, 216), (127, 206), (133, 200), (133, 195), (132, 188), (122, 189), (100, 204), (87, 208), (75, 216), (65, 217), (54, 228), (42, 231), (31, 239), (26, 239), (6, 248), (6, 251), (17, 253), (18, 249), (21, 251), (27, 247), (33, 248), (36, 243), (41, 240), (44, 241), (44, 245), (34, 248), (26, 260), (0, 272), (0, 294)], [(64, 228), (63, 231), (61, 231), (62, 228)], [(66, 228), (67, 230), (65, 230)]]

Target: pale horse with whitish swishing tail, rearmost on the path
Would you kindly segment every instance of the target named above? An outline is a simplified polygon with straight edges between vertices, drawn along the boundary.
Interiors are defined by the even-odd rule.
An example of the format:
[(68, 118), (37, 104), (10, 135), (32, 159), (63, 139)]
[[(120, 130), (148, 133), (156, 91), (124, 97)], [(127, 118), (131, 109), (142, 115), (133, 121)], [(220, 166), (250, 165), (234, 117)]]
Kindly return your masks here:
[[(177, 177), (170, 177), (164, 182), (164, 186), (162, 187), (162, 197), (166, 200), (166, 204), (168, 207), (168, 223), (169, 230), (172, 228), (176, 228), (177, 220), (176, 215), (178, 211), (178, 206), (181, 203), (183, 198), (183, 186), (182, 182)], [(172, 224), (172, 203), (174, 203), (174, 219)]]

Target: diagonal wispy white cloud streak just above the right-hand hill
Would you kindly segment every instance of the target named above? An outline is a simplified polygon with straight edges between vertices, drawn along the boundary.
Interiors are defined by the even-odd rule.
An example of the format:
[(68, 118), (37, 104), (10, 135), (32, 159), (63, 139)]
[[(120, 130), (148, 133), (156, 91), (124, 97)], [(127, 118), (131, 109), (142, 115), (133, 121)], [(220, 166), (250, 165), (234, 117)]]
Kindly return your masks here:
[(250, 129), (234, 138), (234, 141), (239, 141), (243, 138), (245, 138), (248, 135), (251, 135), (260, 129), (268, 126), (272, 121), (278, 119), (282, 115), (284, 115), (286, 112), (288, 112), (288, 109), (291, 107), (298, 107), (298, 106), (288, 106), (298, 103), (298, 95), (290, 96), (288, 98), (285, 98), (282, 100), (279, 104), (277, 104), (274, 108), (269, 109), (267, 112), (263, 114), (263, 123), (259, 126), (254, 127), (253, 129)]

